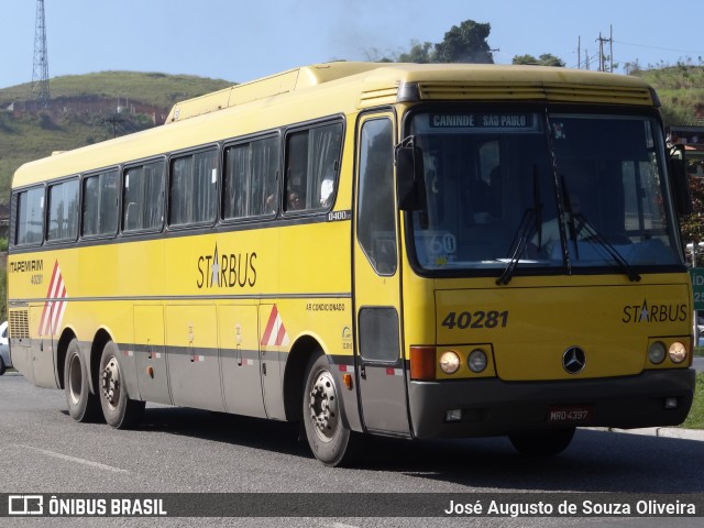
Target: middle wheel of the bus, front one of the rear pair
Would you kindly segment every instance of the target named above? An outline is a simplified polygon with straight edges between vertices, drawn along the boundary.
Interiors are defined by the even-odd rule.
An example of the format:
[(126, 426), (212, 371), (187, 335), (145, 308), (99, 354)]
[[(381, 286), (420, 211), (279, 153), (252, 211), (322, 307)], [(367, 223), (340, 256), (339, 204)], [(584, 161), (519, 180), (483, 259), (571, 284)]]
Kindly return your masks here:
[(108, 341), (100, 356), (98, 380), (100, 406), (109, 426), (117, 429), (131, 429), (140, 424), (145, 403), (130, 399), (119, 356), (118, 345)]

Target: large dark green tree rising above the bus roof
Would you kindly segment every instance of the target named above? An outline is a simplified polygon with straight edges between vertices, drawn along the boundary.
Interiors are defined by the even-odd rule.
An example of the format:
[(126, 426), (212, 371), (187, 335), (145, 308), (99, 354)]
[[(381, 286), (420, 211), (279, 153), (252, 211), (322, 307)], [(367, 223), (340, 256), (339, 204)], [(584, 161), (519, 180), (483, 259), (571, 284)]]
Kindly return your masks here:
[(486, 42), (491, 31), (491, 24), (480, 24), (473, 20), (453, 25), (444, 34), (443, 41), (436, 44), (435, 62), (494, 64), (492, 50)]

